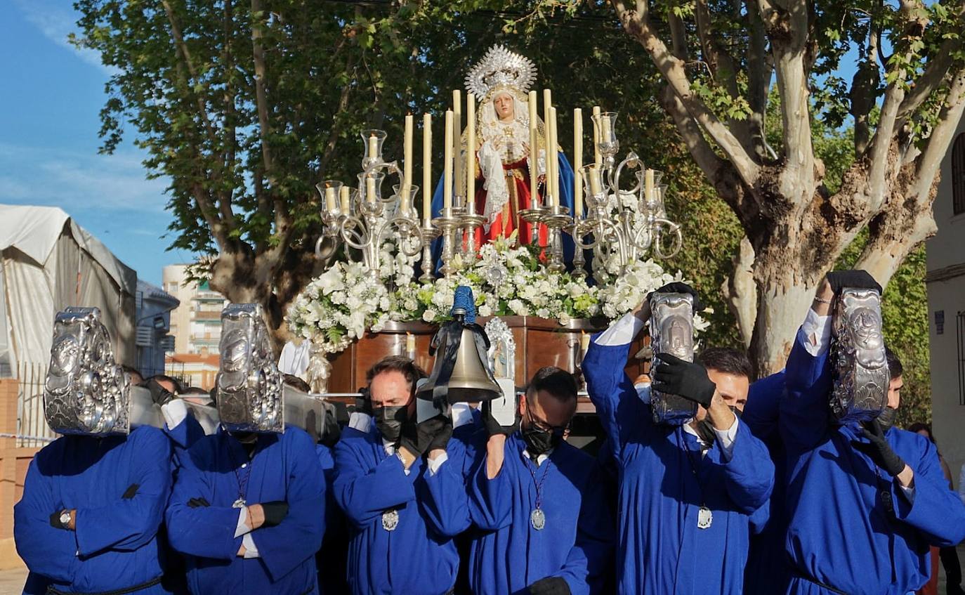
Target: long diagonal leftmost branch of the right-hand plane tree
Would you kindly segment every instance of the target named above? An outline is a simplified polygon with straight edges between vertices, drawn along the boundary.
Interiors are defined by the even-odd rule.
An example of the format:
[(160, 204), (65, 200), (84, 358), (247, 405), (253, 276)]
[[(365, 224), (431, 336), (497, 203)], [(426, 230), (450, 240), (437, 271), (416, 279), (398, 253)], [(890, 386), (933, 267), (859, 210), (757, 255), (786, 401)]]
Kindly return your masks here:
[(647, 49), (653, 63), (670, 84), (680, 103), (728, 156), (744, 184), (754, 186), (758, 181), (758, 164), (747, 154), (731, 130), (691, 92), (690, 80), (684, 71), (683, 63), (670, 54), (667, 45), (657, 37), (649, 23), (647, 1), (637, 0), (636, 11), (628, 11), (622, 0), (611, 1), (623, 28)]

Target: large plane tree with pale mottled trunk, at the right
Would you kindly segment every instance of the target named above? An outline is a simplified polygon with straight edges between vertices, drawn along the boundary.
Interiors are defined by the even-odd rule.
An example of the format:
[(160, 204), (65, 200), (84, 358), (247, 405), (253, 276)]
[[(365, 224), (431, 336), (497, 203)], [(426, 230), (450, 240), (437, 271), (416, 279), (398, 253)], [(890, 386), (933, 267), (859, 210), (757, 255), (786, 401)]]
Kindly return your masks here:
[[(774, 371), (815, 287), (862, 230), (868, 241), (855, 266), (883, 285), (934, 234), (938, 167), (965, 107), (965, 5), (609, 4), (659, 71), (663, 109), (743, 229), (729, 298), (738, 325), (753, 329), (745, 336), (758, 372)], [(540, 5), (569, 14), (604, 8)], [(837, 72), (849, 51), (858, 68), (844, 81)], [(766, 129), (772, 79), (781, 114), (773, 145)], [(814, 123), (838, 129), (848, 116), (854, 160), (832, 189)]]

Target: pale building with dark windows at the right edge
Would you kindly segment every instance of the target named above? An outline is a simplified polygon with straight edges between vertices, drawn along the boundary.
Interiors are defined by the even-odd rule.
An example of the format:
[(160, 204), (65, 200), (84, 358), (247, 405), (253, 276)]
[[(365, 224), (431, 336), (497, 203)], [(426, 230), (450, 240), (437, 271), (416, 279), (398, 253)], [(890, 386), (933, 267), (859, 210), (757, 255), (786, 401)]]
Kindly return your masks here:
[(926, 244), (931, 419), (958, 488), (965, 464), (965, 121), (941, 176), (934, 204), (938, 234)]

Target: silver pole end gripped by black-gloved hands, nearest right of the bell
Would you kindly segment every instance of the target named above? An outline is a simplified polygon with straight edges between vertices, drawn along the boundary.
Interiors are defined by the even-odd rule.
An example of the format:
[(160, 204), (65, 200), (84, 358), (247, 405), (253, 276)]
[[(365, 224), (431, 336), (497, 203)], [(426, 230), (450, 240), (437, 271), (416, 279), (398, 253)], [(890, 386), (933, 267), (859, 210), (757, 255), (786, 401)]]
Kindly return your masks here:
[[(660, 365), (659, 354), (694, 360), (694, 297), (689, 294), (653, 294), (650, 297), (650, 370)], [(679, 426), (697, 414), (697, 404), (652, 390), (650, 411), (656, 423)]]

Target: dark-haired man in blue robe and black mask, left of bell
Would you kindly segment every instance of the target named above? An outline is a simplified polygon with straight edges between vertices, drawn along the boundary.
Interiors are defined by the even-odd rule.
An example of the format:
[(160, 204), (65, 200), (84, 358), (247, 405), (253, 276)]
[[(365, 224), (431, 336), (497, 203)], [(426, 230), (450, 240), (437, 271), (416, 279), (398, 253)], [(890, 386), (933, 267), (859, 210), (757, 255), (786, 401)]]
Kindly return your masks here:
[(455, 584), (453, 537), (469, 524), (464, 453), (447, 418), (417, 422), (423, 377), (407, 357), (375, 363), (372, 415), (353, 413), (335, 446), (333, 491), (349, 522), (346, 576), (356, 595), (443, 595)]

